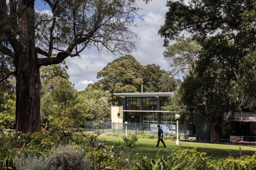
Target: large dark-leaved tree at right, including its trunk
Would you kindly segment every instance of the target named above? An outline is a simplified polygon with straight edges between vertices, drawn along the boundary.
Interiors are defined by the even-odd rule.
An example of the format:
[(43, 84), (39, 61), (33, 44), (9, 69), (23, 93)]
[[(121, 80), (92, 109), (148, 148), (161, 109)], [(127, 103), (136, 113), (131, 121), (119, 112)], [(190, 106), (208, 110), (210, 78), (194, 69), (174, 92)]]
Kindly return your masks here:
[[(186, 31), (202, 47), (195, 72), (186, 76), (181, 84), (182, 99), (190, 109), (211, 116), (211, 142), (220, 142), (224, 111), (239, 109), (241, 104), (237, 101), (241, 102), (239, 98), (245, 97), (246, 92), (256, 96), (252, 90), (255, 85), (249, 77), (246, 82), (250, 85), (242, 86), (246, 91), (242, 90), (244, 95), (238, 97), (235, 92), (238, 88), (233, 90), (234, 85), (241, 84), (241, 78), (246, 77), (243, 72), (246, 64), (241, 63), (256, 49), (256, 17), (253, 15), (256, 3), (251, 0), (191, 0), (185, 4), (179, 0), (168, 1), (167, 7), (165, 23), (159, 30), (164, 45), (168, 46)], [(247, 66), (255, 70), (252, 65)], [(243, 107), (249, 103), (243, 103)]]

